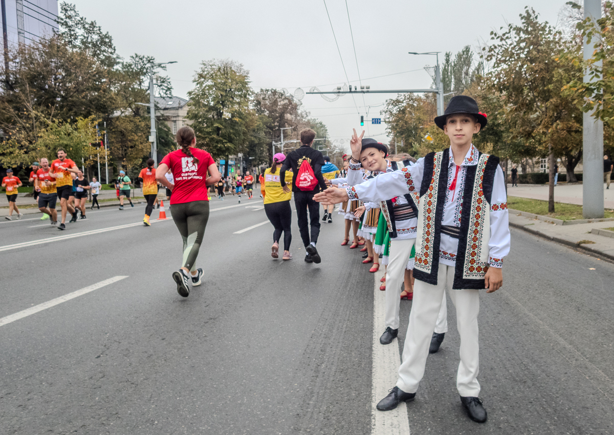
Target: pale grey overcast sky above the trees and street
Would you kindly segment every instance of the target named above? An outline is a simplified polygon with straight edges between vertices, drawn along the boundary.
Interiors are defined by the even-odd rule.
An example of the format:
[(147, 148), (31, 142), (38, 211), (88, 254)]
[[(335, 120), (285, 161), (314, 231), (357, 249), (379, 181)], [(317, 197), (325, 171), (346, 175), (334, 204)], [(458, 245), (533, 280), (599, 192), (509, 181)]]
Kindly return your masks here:
[[(430, 87), (424, 66), (434, 65), (435, 56), (407, 52), (477, 48), (488, 42), (493, 29), (519, 23), (518, 15), (529, 3), (553, 24), (565, 5), (565, 0), (348, 0), (355, 58), (345, 0), (69, 1), (111, 33), (120, 56), (141, 53), (160, 62), (177, 61), (168, 66), (168, 75), (174, 94), (184, 98), (200, 62), (211, 59), (242, 63), (254, 90), (286, 88), (294, 93), (298, 87), (333, 90), (346, 83), (325, 4), (352, 85), (359, 86), (360, 71), (362, 84), (378, 90)], [(379, 117), (384, 101), (394, 96), (363, 99), (357, 94), (327, 102), (320, 95), (306, 95), (302, 109), (323, 121), (333, 140), (348, 139), (352, 127), (359, 128), (360, 115), (365, 120)], [(365, 137), (387, 142), (385, 129), (384, 124), (365, 122)]]

